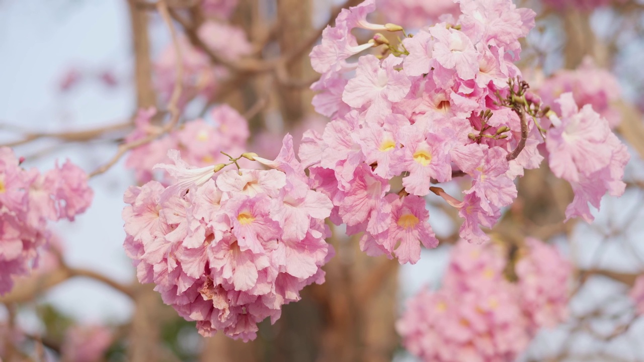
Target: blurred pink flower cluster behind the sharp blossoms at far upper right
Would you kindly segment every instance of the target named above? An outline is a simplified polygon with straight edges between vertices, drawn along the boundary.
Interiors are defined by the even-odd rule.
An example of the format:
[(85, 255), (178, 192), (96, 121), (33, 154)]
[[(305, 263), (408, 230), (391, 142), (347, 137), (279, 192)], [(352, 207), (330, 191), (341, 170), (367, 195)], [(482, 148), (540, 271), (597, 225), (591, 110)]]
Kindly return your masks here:
[(574, 102), (582, 108), (590, 104), (596, 111), (608, 120), (609, 126), (615, 128), (621, 121), (620, 111), (612, 102), (620, 99), (621, 88), (611, 72), (598, 68), (591, 57), (583, 59), (582, 65), (576, 70), (560, 70), (553, 77), (538, 85), (537, 93), (545, 104), (553, 111), (561, 114), (561, 107), (555, 100), (562, 93), (573, 93)]

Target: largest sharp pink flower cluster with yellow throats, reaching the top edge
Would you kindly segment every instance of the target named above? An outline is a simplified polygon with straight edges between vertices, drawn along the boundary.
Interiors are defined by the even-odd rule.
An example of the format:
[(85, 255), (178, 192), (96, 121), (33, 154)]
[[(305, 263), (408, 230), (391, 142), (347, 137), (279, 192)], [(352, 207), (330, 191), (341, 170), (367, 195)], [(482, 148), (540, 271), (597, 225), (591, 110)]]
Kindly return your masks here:
[[(516, 8), (511, 0), (462, 0), (459, 5), (457, 24), (442, 22), (414, 35), (403, 33), (397, 45), (381, 33), (358, 44), (354, 28), (401, 30), (395, 24), (369, 23), (366, 17), (375, 3), (366, 0), (343, 10), (310, 53), (314, 70), (321, 73), (312, 85), (319, 91), (313, 104), (332, 120), (323, 133), (305, 133), (299, 156), (317, 189), (334, 203), (332, 221), (346, 224), (349, 234), (364, 231), (361, 247), (370, 255), (395, 254), (401, 263), (414, 263), (421, 243), (437, 244), (424, 209), (423, 197), (430, 192), (459, 210), (462, 238), (489, 240), (481, 228), (493, 227), (501, 209), (513, 203), (515, 178), (524, 169), (539, 167), (544, 157), (538, 146), (544, 140), (560, 177), (565, 171), (558, 164), (570, 157), (558, 145), (571, 141), (576, 148), (584, 138), (596, 144), (607, 140), (592, 153), (575, 153), (565, 165), (605, 183), (596, 187), (566, 174), (576, 183), (569, 217), (589, 220), (583, 210), (587, 202), (598, 206), (597, 198), (606, 191), (621, 195), (619, 180), (628, 157), (605, 119), (584, 108), (580, 122), (605, 129), (574, 140), (558, 136), (567, 127), (560, 128), (562, 122), (570, 124), (573, 117), (569, 108), (562, 108), (562, 122), (554, 122), (551, 131), (538, 122), (550, 125), (547, 108), (527, 92), (529, 86), (513, 64), (535, 13)], [(379, 57), (366, 54), (350, 62), (372, 46), (381, 48)], [(600, 151), (600, 158), (592, 158)], [(453, 176), (471, 180), (462, 201), (431, 186)], [(392, 189), (395, 184), (403, 189)]]

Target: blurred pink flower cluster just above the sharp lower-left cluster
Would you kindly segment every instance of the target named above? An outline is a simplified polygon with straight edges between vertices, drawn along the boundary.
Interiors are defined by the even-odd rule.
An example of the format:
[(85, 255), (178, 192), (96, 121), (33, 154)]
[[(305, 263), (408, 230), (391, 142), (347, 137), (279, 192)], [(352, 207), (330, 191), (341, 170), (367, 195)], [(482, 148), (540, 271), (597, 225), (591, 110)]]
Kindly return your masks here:
[[(135, 119), (136, 128), (126, 137), (126, 142), (144, 138), (158, 132), (151, 120), (156, 111), (140, 110)], [(236, 110), (225, 104), (210, 111), (209, 122), (203, 119), (186, 122), (177, 131), (153, 142), (133, 149), (126, 159), (126, 167), (135, 170), (137, 182), (153, 179), (153, 167), (167, 163), (168, 149), (178, 149), (184, 159), (194, 166), (206, 166), (228, 159), (222, 151), (242, 153), (249, 138), (248, 122)], [(162, 180), (167, 185), (169, 180)]]

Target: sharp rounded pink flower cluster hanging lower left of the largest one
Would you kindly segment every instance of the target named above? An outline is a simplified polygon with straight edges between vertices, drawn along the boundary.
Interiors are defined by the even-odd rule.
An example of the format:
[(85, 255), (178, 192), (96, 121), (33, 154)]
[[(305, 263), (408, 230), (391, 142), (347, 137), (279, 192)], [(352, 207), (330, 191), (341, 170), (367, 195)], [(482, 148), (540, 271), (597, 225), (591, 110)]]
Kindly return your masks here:
[(276, 321), (305, 285), (324, 281), (332, 204), (310, 188), (290, 135), (273, 161), (244, 155), (268, 170), (193, 169), (170, 154), (175, 164), (160, 167), (175, 184), (151, 181), (124, 196), (125, 247), (138, 279), (155, 283), (204, 336), (254, 339), (256, 323)]

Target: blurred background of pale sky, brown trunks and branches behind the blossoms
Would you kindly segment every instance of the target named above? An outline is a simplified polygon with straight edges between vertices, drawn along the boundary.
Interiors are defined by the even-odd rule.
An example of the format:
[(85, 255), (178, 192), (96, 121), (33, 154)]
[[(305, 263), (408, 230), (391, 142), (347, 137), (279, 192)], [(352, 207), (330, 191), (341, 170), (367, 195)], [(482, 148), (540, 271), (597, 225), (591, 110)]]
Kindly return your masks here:
[[(249, 117), (248, 149), (266, 158), (276, 155), (287, 131), (298, 139), (305, 129), (324, 128), (328, 120), (311, 106), (314, 93), (308, 87), (317, 73), (310, 68), (308, 53), (330, 18), (359, 1), (168, 3), (177, 32), (193, 49), (184, 54), (188, 74), (182, 118), (208, 117), (212, 106), (227, 103)], [(374, 22), (398, 23), (411, 31), (436, 21), (441, 2), (435, 7), (431, 3), (383, 0), (379, 5), (386, 10)], [(592, 225), (573, 220), (561, 227), (572, 194), (547, 171), (534, 170), (520, 180), (522, 209), (511, 212), (531, 220), (522, 232), (557, 245), (577, 272), (570, 285), (569, 320), (537, 334), (519, 360), (644, 361), (644, 321), (627, 296), (635, 276), (644, 270), (644, 3), (515, 3), (538, 14), (518, 64), (524, 78), (544, 90), (544, 99), (564, 90), (605, 91), (602, 114), (614, 119), (631, 153), (625, 195), (602, 200)], [(396, 6), (411, 10), (394, 11)], [(205, 21), (229, 28), (216, 30), (213, 37), (220, 39), (213, 44), (200, 43), (194, 35)], [(243, 46), (226, 43), (235, 37)], [(26, 167), (48, 169), (57, 158), (70, 158), (87, 171), (104, 164), (133, 129), (131, 120), (139, 108), (164, 110), (175, 77), (171, 46), (167, 26), (152, 2), (0, 0), (0, 143), (23, 155)], [(290, 58), (277, 71), (252, 73), (252, 63), (235, 66), (234, 58), (218, 59), (211, 55), (217, 52), (200, 50), (204, 46), (227, 46), (229, 53), (252, 59)], [(588, 75), (600, 70), (605, 73)], [(49, 270), (43, 263), (42, 274), (36, 271), (18, 283), (23, 292), (0, 298), (0, 341), (19, 346), (22, 352), (16, 358), (417, 360), (401, 347), (394, 323), (407, 298), (422, 287), (440, 285), (459, 225), (444, 207), (428, 205), (441, 244), (423, 250), (415, 265), (370, 258), (359, 251), (357, 240), (345, 240), (337, 230), (337, 255), (327, 265), (327, 283), (307, 287), (302, 301), (285, 306), (275, 325), (265, 321), (258, 339), (244, 344), (221, 334), (202, 338), (194, 323), (162, 305), (150, 285), (136, 283), (122, 249), (120, 213), (124, 190), (137, 181), (121, 158), (91, 179), (92, 207), (73, 223), (53, 226), (64, 263), (131, 287), (135, 298), (91, 273), (46, 278), (55, 276), (57, 261)], [(508, 226), (502, 221), (498, 227)], [(73, 343), (94, 343), (100, 353), (88, 354), (89, 359), (66, 356), (65, 348), (80, 348), (64, 347)]]

